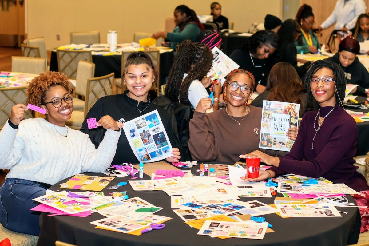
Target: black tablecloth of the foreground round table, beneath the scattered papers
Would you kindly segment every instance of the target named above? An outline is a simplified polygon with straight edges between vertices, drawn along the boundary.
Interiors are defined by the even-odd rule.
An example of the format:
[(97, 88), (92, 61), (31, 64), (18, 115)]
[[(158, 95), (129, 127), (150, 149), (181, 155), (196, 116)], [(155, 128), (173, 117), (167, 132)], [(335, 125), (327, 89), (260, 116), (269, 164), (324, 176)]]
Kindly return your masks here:
[[(155, 163), (145, 164), (154, 165)], [(220, 164), (220, 163), (217, 163)], [(194, 168), (193, 168), (194, 169)], [(188, 170), (188, 169), (182, 169)], [(193, 170), (195, 175), (199, 175)], [(101, 173), (84, 173), (87, 175), (104, 176)], [(151, 179), (144, 174), (144, 179)], [(59, 181), (51, 187), (51, 190), (60, 190), (59, 183), (64, 183), (68, 179)], [(116, 185), (121, 181), (129, 180), (128, 177), (115, 178), (110, 185)], [(104, 218), (103, 215), (94, 213), (86, 218), (75, 216), (47, 216), (42, 212), (40, 216), (41, 233), (38, 240), (39, 246), (55, 245), (55, 240), (79, 246), (94, 245), (351, 245), (357, 243), (361, 225), (361, 218), (358, 208), (338, 208), (339, 211), (348, 212), (341, 214), (342, 217), (332, 218), (281, 218), (277, 214), (262, 215), (273, 225), (273, 233), (266, 233), (263, 240), (229, 238), (219, 239), (208, 236), (197, 235), (195, 228), (190, 228), (182, 219), (177, 216), (171, 208), (170, 197), (164, 191), (133, 191), (130, 184), (121, 186), (118, 190), (108, 190), (104, 188), (104, 194), (108, 195), (113, 191), (127, 191), (130, 198), (139, 197), (151, 204), (163, 207), (157, 215), (172, 217), (164, 222), (166, 227), (161, 230), (153, 230), (140, 236), (134, 236), (121, 232), (96, 229), (89, 222)], [(281, 195), (278, 193), (278, 195)], [(349, 202), (354, 199), (348, 195)], [(258, 200), (265, 204), (273, 204), (272, 198), (241, 198), (241, 201)]]

